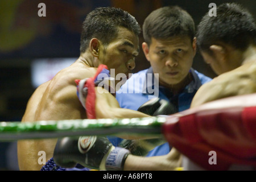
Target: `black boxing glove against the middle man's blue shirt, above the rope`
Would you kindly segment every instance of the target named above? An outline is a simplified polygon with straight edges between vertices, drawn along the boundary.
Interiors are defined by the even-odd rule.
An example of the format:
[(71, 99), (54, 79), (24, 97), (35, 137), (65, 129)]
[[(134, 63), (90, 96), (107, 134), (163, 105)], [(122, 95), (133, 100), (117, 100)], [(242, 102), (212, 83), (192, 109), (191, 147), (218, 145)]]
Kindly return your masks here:
[(160, 98), (153, 98), (145, 102), (139, 107), (138, 111), (152, 116), (170, 115), (178, 112), (173, 104)]

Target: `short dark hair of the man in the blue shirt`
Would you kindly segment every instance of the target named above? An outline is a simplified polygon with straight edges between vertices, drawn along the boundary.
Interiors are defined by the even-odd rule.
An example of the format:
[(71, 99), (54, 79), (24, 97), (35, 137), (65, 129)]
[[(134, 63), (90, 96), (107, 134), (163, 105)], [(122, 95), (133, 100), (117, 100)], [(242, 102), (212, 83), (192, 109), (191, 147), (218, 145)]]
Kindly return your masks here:
[(144, 41), (150, 46), (151, 38), (168, 39), (174, 36), (195, 36), (195, 23), (191, 15), (179, 6), (164, 6), (147, 16), (143, 23)]

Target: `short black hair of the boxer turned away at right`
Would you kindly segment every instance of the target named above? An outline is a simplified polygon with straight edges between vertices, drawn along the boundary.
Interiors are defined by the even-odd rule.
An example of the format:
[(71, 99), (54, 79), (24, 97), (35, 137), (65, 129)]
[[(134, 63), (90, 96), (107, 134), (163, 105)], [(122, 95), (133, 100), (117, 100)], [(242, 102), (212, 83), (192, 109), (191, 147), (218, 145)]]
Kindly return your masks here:
[(197, 46), (211, 53), (209, 47), (220, 42), (245, 50), (256, 44), (256, 26), (253, 15), (237, 3), (217, 6), (216, 16), (205, 14), (197, 27)]

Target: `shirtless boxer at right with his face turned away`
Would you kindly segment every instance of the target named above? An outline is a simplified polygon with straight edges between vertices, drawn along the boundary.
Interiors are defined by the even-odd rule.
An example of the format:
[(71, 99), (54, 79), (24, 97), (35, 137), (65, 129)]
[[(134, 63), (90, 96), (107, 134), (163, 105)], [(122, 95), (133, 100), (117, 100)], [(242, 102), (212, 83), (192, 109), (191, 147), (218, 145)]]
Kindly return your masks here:
[[(253, 16), (235, 3), (225, 3), (217, 6), (217, 16), (210, 17), (207, 13), (197, 29), (199, 51), (206, 63), (210, 64), (219, 76), (200, 87), (192, 100), (192, 109), (198, 108), (197, 111), (200, 111), (204, 108), (203, 104), (207, 102), (210, 104), (210, 101), (256, 93), (256, 26)], [(250, 96), (247, 97), (247, 100), (249, 98)], [(255, 99), (255, 95), (251, 98)], [(210, 106), (212, 109), (216, 109), (216, 105), (221, 107), (224, 104), (226, 107), (232, 107), (236, 100), (238, 102), (235, 103), (238, 106), (245, 104), (243, 98), (234, 97), (233, 100), (216, 101)], [(202, 107), (199, 107), (200, 105)], [(189, 133), (189, 130), (187, 131)], [(173, 169), (162, 167), (165, 163), (170, 163), (171, 166), (177, 162), (179, 152), (173, 148), (169, 154), (161, 157), (163, 160), (155, 168), (158, 170)], [(125, 169), (143, 170), (142, 163), (148, 164), (149, 168), (152, 164), (150, 160), (151, 158), (129, 155), (125, 162)], [(208, 161), (206, 162), (208, 163)], [(192, 170), (196, 169), (202, 168), (198, 166), (192, 168)]]

